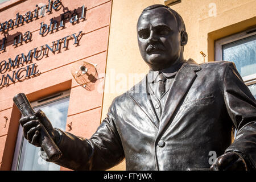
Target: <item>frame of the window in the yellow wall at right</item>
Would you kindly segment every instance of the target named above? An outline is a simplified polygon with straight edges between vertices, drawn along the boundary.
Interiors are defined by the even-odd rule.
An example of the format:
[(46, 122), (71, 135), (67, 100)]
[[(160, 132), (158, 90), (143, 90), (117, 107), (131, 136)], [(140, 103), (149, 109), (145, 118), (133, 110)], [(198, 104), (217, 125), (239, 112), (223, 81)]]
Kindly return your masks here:
[[(218, 39), (215, 42), (215, 50), (214, 50), (214, 60), (222, 61), (222, 46), (228, 43), (235, 42), (237, 40), (245, 39), (249, 36), (256, 35), (256, 27), (250, 28), (248, 30), (242, 31), (238, 34), (230, 35), (222, 39)], [(253, 85), (256, 83), (256, 73), (253, 75), (248, 75), (242, 77), (243, 81), (247, 86)]]

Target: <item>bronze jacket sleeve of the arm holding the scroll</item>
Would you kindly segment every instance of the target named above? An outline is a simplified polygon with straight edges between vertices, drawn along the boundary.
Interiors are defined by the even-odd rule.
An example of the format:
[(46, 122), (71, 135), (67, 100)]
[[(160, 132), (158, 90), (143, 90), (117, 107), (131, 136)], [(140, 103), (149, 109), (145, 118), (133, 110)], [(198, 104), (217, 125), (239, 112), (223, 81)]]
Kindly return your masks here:
[[(76, 137), (61, 130), (59, 133), (57, 146), (63, 155), (53, 163), (60, 166), (73, 170), (105, 170), (124, 159), (121, 139), (111, 109), (90, 139)], [(44, 151), (41, 156), (49, 161)]]

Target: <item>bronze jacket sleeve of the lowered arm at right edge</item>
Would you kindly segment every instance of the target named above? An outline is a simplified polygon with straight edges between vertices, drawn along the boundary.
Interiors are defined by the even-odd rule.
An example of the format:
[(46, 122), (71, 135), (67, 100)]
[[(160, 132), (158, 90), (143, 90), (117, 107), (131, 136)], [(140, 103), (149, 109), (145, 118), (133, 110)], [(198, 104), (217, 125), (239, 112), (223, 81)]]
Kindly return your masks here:
[(237, 129), (225, 152), (238, 152), (251, 169), (256, 167), (256, 101), (234, 64), (229, 63), (223, 81), (226, 108)]

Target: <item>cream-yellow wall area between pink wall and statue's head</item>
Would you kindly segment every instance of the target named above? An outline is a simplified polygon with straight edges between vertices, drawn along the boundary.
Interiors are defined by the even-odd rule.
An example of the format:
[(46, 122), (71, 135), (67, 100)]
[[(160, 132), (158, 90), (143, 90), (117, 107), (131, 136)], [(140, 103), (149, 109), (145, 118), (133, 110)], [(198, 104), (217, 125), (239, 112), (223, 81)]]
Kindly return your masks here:
[[(139, 53), (136, 27), (142, 10), (154, 4), (164, 4), (164, 0), (113, 0), (101, 120), (113, 99), (141, 80), (132, 77), (148, 72)], [(113, 170), (125, 170), (125, 162)]]

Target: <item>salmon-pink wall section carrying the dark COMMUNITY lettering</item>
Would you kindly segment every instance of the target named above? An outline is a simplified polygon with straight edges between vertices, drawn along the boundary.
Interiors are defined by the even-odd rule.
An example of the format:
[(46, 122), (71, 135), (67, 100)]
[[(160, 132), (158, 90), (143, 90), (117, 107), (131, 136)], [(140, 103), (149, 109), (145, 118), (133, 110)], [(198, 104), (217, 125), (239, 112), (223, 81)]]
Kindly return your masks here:
[[(44, 3), (48, 5), (48, 0), (27, 0), (12, 1), (14, 4), (5, 3), (0, 5), (0, 22), (15, 19), (16, 14), (26, 14), (28, 11), (34, 10), (36, 5)], [(16, 2), (16, 3), (15, 3)], [(73, 11), (78, 7), (85, 5), (85, 19), (79, 20), (77, 23), (65, 23), (65, 28), (59, 28), (47, 35), (40, 35), (40, 23), (49, 24), (51, 18), (60, 21), (60, 14)], [(82, 88), (76, 84), (71, 75), (72, 65), (77, 61), (86, 61), (97, 64), (98, 74), (105, 73), (106, 55), (108, 49), (109, 23), (111, 14), (112, 1), (110, 0), (81, 0), (69, 1), (61, 0), (61, 6), (57, 11), (52, 10), (46, 13), (44, 17), (39, 16), (31, 22), (24, 22), (19, 27), (14, 27), (9, 31), (0, 32), (0, 40), (3, 36), (7, 37), (5, 51), (0, 51), (0, 61), (15, 59), (16, 55), (27, 53), (36, 47), (48, 44), (52, 46), (52, 42), (64, 38), (65, 36), (76, 34), (82, 31), (79, 36), (79, 44), (74, 44), (75, 39), (68, 40), (67, 48), (63, 48), (64, 42), (60, 43), (60, 51), (54, 53), (48, 51), (47, 55), (39, 57), (38, 60), (32, 59), (29, 63), (25, 63), (21, 67), (30, 64), (36, 64), (36, 70), (40, 74), (31, 76), (31, 78), (12, 83), (9, 86), (0, 86), (0, 166), (1, 170), (10, 170), (13, 161), (16, 135), (18, 132), (20, 114), (16, 106), (13, 104), (13, 97), (18, 93), (26, 93), (28, 99), (36, 101), (42, 97), (71, 89), (67, 124), (72, 122), (72, 130), (70, 133), (81, 137), (89, 138), (100, 125), (101, 107), (103, 97), (103, 79), (96, 82), (95, 88), (91, 91)], [(77, 10), (79, 11), (79, 10)], [(71, 18), (71, 17), (70, 17)], [(70, 19), (69, 18), (69, 19)], [(68, 21), (68, 20), (67, 20)], [(23, 42), (18, 46), (12, 46), (14, 36), (26, 31), (32, 34), (30, 42)], [(20, 67), (20, 68), (21, 68)], [(19, 68), (11, 69), (4, 74), (17, 71)], [(23, 72), (24, 73), (24, 72)], [(3, 74), (1, 73), (1, 76)], [(1, 82), (1, 80), (0, 80)], [(96, 91), (96, 88), (98, 90)], [(7, 118), (7, 122), (6, 119)], [(6, 126), (5, 126), (6, 125)], [(68, 129), (68, 127), (67, 127)], [(61, 168), (64, 170), (65, 168)]]

